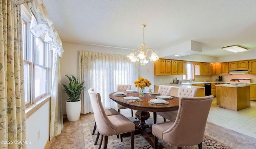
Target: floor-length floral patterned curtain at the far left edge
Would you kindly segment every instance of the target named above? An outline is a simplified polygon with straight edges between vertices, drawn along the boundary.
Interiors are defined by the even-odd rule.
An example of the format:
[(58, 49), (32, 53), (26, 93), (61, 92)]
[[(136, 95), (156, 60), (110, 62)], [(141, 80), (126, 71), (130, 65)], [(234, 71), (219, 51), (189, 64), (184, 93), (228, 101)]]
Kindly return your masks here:
[(0, 149), (26, 149), (22, 18), (19, 2), (0, 1)]

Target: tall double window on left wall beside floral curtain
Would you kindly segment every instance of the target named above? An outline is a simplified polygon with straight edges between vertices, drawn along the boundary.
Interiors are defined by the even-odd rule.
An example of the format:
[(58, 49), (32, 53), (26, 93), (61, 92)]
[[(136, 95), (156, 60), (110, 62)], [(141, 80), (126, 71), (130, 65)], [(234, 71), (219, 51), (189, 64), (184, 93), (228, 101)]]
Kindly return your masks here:
[[(26, 11), (26, 10), (25, 10)], [(50, 93), (52, 51), (44, 36), (30, 33), (30, 18), (22, 9), (22, 44), (24, 60), (24, 93), (26, 106)]]

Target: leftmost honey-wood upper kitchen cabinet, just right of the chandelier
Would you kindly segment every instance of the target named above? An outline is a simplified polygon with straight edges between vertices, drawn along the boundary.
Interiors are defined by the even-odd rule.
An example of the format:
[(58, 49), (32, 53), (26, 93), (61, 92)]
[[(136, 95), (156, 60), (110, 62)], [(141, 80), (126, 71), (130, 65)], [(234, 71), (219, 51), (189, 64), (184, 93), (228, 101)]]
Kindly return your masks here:
[(154, 75), (171, 75), (172, 60), (159, 59), (154, 61)]

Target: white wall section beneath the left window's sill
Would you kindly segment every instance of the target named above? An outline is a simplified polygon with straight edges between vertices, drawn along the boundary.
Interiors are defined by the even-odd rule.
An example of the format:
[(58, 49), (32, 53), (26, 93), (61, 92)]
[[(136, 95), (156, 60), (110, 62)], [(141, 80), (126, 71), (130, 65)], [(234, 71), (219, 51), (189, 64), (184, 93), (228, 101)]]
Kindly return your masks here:
[[(50, 101), (46, 102), (40, 109), (26, 119), (27, 149), (43, 149), (49, 139), (50, 125)], [(38, 138), (38, 132), (40, 137)]]

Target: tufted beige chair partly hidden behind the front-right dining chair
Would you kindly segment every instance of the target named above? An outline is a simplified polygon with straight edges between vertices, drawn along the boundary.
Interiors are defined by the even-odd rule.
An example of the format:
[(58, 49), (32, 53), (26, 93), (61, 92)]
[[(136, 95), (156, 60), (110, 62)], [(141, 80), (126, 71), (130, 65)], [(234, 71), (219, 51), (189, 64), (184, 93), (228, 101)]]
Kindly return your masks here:
[[(179, 87), (177, 97), (195, 97), (196, 91), (197, 91), (196, 88)], [(169, 111), (169, 112), (157, 112), (156, 114), (164, 117), (164, 121), (166, 121), (166, 119), (170, 121), (174, 121), (178, 114), (178, 110)]]

